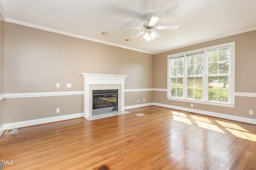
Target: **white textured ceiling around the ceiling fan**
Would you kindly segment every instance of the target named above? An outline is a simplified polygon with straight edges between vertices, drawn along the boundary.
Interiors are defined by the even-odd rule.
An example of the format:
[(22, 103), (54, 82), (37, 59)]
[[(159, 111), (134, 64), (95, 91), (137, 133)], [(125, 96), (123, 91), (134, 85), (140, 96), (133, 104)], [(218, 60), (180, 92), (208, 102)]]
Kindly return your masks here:
[[(48, 30), (145, 53), (256, 30), (256, 0), (0, 0), (6, 22)], [(156, 30), (160, 38), (146, 42), (146, 16), (158, 16), (156, 26), (178, 25), (177, 30)], [(101, 32), (108, 32), (103, 36)]]

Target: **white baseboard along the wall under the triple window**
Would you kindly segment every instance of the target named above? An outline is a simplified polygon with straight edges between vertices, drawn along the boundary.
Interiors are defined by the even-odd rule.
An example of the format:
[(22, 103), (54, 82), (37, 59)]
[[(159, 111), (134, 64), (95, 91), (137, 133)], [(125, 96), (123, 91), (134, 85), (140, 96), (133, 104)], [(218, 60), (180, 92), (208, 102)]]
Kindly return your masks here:
[(244, 122), (244, 123), (250, 123), (250, 124), (256, 125), (256, 119), (250, 119), (250, 118), (246, 118), (246, 117), (226, 115), (226, 114), (222, 114), (222, 113), (202, 111), (202, 110), (191, 109), (191, 108), (186, 108), (186, 107), (165, 105), (165, 104), (161, 104), (161, 103), (153, 103), (153, 105), (154, 106), (160, 106), (160, 107), (166, 107), (166, 108), (169, 108), (169, 109), (176, 109), (176, 110), (180, 110), (180, 111), (187, 111), (187, 112), (192, 112), (192, 113), (198, 113), (198, 114), (202, 114), (202, 115), (218, 117), (218, 118), (222, 118), (222, 119), (228, 119), (228, 120), (232, 120), (232, 121), (238, 121), (238, 122)]

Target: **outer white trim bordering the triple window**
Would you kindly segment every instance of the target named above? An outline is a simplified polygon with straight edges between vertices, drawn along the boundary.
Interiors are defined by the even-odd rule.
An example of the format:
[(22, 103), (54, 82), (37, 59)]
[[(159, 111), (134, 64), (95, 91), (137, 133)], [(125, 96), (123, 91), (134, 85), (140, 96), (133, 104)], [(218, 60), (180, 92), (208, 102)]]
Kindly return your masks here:
[[(230, 103), (223, 103), (223, 102), (215, 102), (215, 101), (201, 101), (201, 100), (194, 100), (194, 99), (184, 99), (184, 98), (177, 98), (177, 97), (170, 97), (171, 96), (171, 89), (170, 89), (170, 58), (171, 57), (175, 57), (178, 55), (184, 55), (184, 59), (185, 59), (185, 55), (186, 53), (193, 53), (196, 51), (207, 51), (209, 49), (214, 49), (214, 48), (220, 48), (220, 47), (225, 47), (225, 46), (230, 46), (230, 83), (228, 84), (228, 88), (229, 88), (229, 97), (230, 97)], [(205, 58), (204, 58), (205, 59)], [(216, 105), (216, 106), (223, 106), (223, 107), (235, 107), (235, 42), (229, 42), (229, 43), (224, 43), (224, 44), (219, 44), (219, 45), (214, 45), (214, 46), (210, 46), (210, 47), (205, 47), (205, 48), (201, 48), (201, 49), (196, 49), (196, 50), (192, 50), (192, 51), (185, 51), (182, 53), (176, 53), (176, 54), (172, 54), (172, 55), (168, 55), (167, 56), (167, 63), (168, 63), (168, 73), (167, 73), (167, 99), (168, 100), (174, 100), (174, 101), (183, 101), (183, 102), (189, 102), (189, 103), (201, 103), (201, 104), (206, 104), (206, 105)], [(208, 68), (206, 66), (206, 61), (204, 61), (204, 74), (206, 73), (206, 69)], [(186, 73), (186, 66), (184, 65), (184, 73)], [(185, 80), (186, 81), (186, 80)], [(203, 81), (203, 85), (204, 83), (206, 83), (207, 81), (204, 80)], [(184, 92), (184, 91), (183, 91)], [(184, 94), (185, 96), (187, 94)], [(183, 95), (183, 97), (184, 97)]]

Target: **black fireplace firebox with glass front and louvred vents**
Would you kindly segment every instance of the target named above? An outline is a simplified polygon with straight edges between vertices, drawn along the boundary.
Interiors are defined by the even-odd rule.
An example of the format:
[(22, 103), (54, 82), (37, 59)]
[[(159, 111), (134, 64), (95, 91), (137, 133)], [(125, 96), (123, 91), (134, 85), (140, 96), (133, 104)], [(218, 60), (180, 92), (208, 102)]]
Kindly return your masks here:
[(118, 111), (118, 89), (92, 91), (92, 116)]

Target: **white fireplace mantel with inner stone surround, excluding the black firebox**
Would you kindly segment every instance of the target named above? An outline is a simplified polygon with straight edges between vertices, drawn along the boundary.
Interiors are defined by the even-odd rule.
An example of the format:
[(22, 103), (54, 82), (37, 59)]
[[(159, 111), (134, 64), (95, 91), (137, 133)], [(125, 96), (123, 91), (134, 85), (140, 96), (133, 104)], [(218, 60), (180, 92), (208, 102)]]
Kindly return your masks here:
[(128, 75), (82, 73), (84, 77), (84, 117), (92, 117), (92, 91), (118, 90), (118, 112), (124, 111), (124, 80)]

